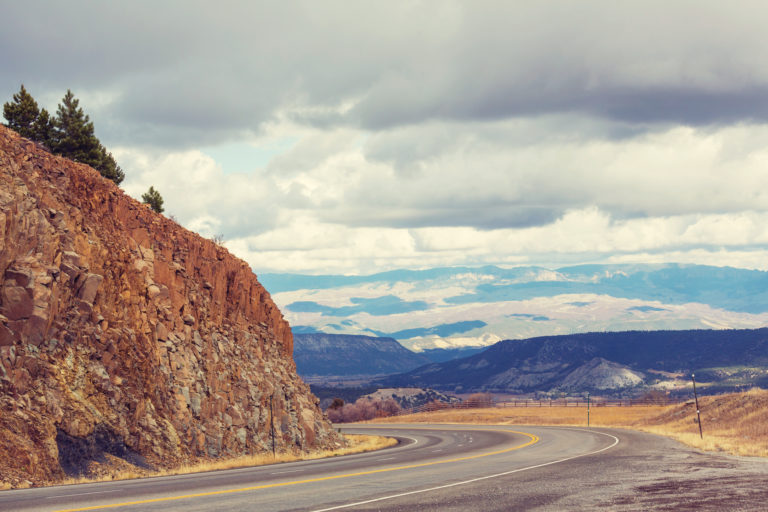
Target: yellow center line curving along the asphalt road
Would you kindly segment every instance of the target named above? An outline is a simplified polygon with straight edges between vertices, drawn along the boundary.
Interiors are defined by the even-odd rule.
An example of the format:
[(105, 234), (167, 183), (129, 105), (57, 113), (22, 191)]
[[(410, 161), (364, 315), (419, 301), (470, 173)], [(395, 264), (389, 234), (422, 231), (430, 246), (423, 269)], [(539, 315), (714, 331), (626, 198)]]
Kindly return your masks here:
[[(413, 430), (413, 429), (409, 429)], [(461, 430), (459, 430), (461, 431)], [(322, 476), (318, 478), (310, 478), (306, 480), (294, 480), (291, 482), (280, 482), (276, 484), (264, 484), (264, 485), (254, 485), (252, 487), (242, 487), (239, 489), (225, 489), (221, 491), (209, 491), (209, 492), (201, 492), (196, 494), (183, 494), (180, 496), (166, 496), (163, 498), (152, 498), (148, 500), (139, 500), (139, 501), (126, 501), (123, 503), (113, 503), (111, 505), (94, 505), (92, 507), (83, 507), (83, 508), (69, 508), (64, 510), (57, 510), (55, 512), (81, 512), (83, 510), (100, 510), (104, 508), (117, 508), (117, 507), (128, 507), (131, 505), (145, 505), (147, 503), (158, 503), (162, 501), (173, 501), (173, 500), (183, 500), (187, 498), (201, 498), (204, 496), (216, 496), (219, 494), (232, 494), (236, 492), (246, 492), (246, 491), (258, 491), (260, 489), (271, 489), (274, 487), (287, 487), (289, 485), (300, 485), (300, 484), (309, 484), (313, 482), (324, 482), (327, 480), (338, 480), (340, 478), (351, 478), (355, 476), (365, 476), (365, 475), (374, 475), (377, 473), (388, 473), (390, 471), (402, 471), (404, 469), (413, 469), (413, 468), (423, 468), (427, 466), (435, 466), (437, 464), (449, 464), (451, 462), (461, 462), (465, 460), (471, 460), (471, 459), (479, 459), (480, 457), (489, 457), (491, 455), (499, 455), (501, 453), (508, 453), (515, 450), (519, 450), (521, 448), (525, 448), (527, 446), (531, 446), (533, 444), (536, 444), (539, 442), (538, 436), (535, 436), (534, 434), (529, 434), (528, 432), (519, 432), (517, 430), (494, 430), (495, 432), (509, 432), (512, 434), (520, 434), (523, 436), (526, 436), (530, 438), (530, 440), (526, 443), (513, 446), (512, 448), (505, 448), (503, 450), (496, 450), (492, 452), (487, 453), (480, 453), (477, 455), (468, 455), (466, 457), (456, 457), (453, 459), (445, 459), (445, 460), (439, 460), (434, 462), (422, 462), (419, 464), (410, 464), (407, 466), (397, 466), (394, 468), (383, 468), (383, 469), (372, 469), (370, 471), (360, 471), (358, 473), (345, 473), (343, 475), (333, 475), (333, 476)]]

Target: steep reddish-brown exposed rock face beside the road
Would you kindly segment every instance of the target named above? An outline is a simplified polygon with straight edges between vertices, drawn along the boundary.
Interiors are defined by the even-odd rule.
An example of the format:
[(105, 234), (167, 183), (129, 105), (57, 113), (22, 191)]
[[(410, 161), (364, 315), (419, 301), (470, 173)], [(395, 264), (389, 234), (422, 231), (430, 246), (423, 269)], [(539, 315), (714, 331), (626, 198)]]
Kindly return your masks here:
[(3, 480), (94, 439), (156, 466), (271, 449), (270, 401), (278, 448), (337, 441), (245, 262), (4, 127), (0, 279)]

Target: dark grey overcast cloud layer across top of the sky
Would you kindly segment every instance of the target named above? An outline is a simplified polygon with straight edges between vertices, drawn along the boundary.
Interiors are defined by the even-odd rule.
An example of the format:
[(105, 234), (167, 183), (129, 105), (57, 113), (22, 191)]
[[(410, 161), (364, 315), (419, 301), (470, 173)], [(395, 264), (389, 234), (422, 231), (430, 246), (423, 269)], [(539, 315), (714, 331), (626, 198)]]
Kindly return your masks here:
[(114, 102), (95, 112), (105, 138), (177, 148), (258, 133), (281, 112), (373, 132), (555, 113), (762, 122), (765, 11), (719, 2), (11, 4), (0, 90), (20, 81), (56, 97), (108, 89)]

